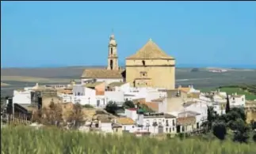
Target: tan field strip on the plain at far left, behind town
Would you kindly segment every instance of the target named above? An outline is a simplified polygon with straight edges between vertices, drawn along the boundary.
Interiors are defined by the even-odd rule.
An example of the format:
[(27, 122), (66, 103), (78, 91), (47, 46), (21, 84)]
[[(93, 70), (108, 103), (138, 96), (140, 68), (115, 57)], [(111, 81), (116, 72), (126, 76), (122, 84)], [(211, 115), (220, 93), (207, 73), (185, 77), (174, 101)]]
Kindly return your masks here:
[[(1, 76), (1, 81), (21, 81), (21, 82), (38, 82), (38, 83), (69, 83), (71, 81), (71, 79), (25, 77), (25, 76)], [(2, 85), (2, 83), (1, 83), (1, 85)]]

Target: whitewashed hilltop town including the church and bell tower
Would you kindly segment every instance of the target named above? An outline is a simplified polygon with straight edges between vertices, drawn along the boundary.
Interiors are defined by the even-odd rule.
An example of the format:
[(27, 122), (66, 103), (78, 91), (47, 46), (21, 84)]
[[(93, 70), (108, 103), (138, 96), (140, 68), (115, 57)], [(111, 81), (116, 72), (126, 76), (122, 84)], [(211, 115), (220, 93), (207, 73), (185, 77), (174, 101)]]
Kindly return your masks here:
[(67, 129), (77, 126), (86, 132), (175, 136), (201, 133), (209, 107), (216, 115), (225, 115), (228, 102), (231, 108), (246, 109), (247, 123), (256, 121), (256, 100), (246, 100), (245, 95), (228, 95), (221, 90), (201, 92), (193, 85), (176, 85), (175, 58), (152, 39), (125, 59), (125, 68), (118, 63), (114, 35), (109, 37), (108, 47), (105, 69), (85, 69), (79, 83), (39, 83), (15, 89), (13, 96), (6, 98), (2, 119), (17, 122), (25, 115), (24, 122), (31, 126), (53, 121), (54, 125), (57, 122)]

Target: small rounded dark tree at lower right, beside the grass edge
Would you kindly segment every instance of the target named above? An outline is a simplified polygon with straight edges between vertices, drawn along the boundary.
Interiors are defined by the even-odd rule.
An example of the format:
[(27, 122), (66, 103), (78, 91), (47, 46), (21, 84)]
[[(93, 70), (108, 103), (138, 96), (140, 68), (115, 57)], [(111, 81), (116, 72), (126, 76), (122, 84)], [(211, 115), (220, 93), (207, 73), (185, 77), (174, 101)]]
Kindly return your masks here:
[(213, 125), (213, 134), (220, 140), (224, 140), (227, 135), (227, 128), (224, 122), (216, 122)]

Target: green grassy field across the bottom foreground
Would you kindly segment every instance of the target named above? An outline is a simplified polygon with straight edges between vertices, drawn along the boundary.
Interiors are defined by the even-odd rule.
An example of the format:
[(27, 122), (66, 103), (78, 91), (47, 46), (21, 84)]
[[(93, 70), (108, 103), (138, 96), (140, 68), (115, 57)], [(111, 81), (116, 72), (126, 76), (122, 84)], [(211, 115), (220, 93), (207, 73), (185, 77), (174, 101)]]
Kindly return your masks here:
[(253, 144), (231, 141), (201, 141), (132, 136), (117, 137), (64, 131), (34, 130), (28, 127), (2, 128), (1, 153), (9, 154), (253, 154)]

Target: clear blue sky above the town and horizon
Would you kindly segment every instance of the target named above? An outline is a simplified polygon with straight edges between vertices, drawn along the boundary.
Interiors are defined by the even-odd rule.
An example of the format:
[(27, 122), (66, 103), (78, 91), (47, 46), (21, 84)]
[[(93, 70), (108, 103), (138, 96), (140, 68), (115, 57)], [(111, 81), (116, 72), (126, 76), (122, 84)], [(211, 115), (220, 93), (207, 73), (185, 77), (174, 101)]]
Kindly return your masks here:
[(121, 65), (152, 38), (178, 66), (256, 66), (256, 2), (1, 2), (1, 66)]

